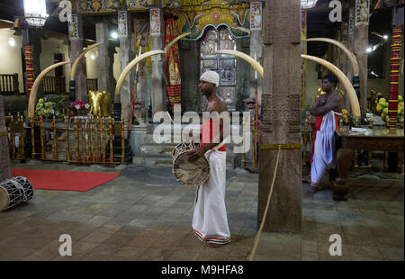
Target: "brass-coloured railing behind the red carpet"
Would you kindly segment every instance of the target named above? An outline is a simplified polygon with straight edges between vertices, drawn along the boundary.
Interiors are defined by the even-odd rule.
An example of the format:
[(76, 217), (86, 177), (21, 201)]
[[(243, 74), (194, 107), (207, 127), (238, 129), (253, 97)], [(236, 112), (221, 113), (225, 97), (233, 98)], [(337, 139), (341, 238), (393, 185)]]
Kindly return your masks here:
[[(10, 157), (14, 159), (40, 159), (72, 163), (124, 164), (124, 120), (112, 117), (75, 116), (57, 121), (42, 117), (28, 123), (19, 113), (6, 118), (9, 131)], [(121, 139), (117, 142), (114, 139)], [(69, 141), (73, 140), (74, 145)], [(62, 146), (58, 144), (62, 143)], [(114, 146), (121, 154), (114, 154)], [(64, 154), (63, 154), (64, 153)], [(115, 160), (114, 158), (119, 158)]]

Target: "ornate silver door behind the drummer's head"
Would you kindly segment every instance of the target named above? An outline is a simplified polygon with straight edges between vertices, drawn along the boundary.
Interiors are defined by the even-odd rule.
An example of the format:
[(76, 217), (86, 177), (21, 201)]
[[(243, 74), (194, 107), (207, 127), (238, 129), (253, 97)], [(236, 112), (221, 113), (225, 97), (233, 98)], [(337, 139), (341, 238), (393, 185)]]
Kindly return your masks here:
[[(236, 40), (230, 35), (228, 28), (220, 26), (218, 29), (207, 28), (200, 40), (201, 64), (200, 74), (205, 71), (216, 71), (220, 75), (220, 85), (217, 94), (227, 103), (229, 111), (235, 111), (236, 96), (236, 61), (228, 54), (215, 54), (220, 49), (236, 49)], [(207, 100), (202, 96), (202, 111), (205, 110)]]

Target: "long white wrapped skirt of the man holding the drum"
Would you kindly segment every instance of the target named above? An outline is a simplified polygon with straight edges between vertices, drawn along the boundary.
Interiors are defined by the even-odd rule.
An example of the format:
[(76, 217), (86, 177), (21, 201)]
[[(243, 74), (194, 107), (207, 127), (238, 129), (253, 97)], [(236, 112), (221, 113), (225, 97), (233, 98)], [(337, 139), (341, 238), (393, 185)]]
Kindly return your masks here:
[(230, 241), (226, 191), (226, 151), (207, 151), (210, 178), (196, 190), (193, 231), (203, 242), (226, 244)]

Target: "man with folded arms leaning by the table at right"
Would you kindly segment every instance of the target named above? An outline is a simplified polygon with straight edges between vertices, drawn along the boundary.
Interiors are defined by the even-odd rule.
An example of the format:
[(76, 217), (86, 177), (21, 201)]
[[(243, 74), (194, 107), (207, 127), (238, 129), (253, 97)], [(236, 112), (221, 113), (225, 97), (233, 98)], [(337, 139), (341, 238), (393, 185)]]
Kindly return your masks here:
[[(327, 166), (335, 168), (335, 150), (323, 148), (320, 139), (318, 142), (316, 140), (318, 135), (319, 138), (320, 136), (322, 137), (323, 142), (332, 142), (333, 145), (335, 144), (334, 133), (336, 127), (338, 127), (338, 113), (340, 113), (343, 108), (343, 98), (335, 90), (337, 85), (337, 76), (324, 76), (322, 80), (322, 91), (326, 92), (326, 94), (321, 94), (310, 109), (311, 115), (316, 116), (316, 120), (312, 143), (311, 180), (308, 181), (308, 178), (304, 179), (305, 182), (311, 183), (306, 191), (307, 193), (315, 193), (317, 191), (317, 185), (320, 183), (320, 178)], [(326, 115), (328, 115), (329, 118), (326, 118)], [(323, 130), (321, 130), (321, 128)]]

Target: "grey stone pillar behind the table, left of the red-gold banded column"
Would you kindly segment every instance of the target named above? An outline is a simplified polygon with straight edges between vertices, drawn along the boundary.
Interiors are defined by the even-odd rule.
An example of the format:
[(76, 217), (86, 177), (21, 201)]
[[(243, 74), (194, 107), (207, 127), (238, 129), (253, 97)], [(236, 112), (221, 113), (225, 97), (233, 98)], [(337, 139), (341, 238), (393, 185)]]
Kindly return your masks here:
[[(360, 111), (361, 118), (365, 119), (367, 111), (367, 52), (368, 48), (368, 16), (369, 8), (365, 9), (357, 5), (355, 9), (355, 30), (353, 34), (354, 53), (357, 58), (358, 66), (360, 67)], [(360, 12), (360, 10), (362, 10)], [(366, 12), (365, 12), (366, 11)], [(366, 13), (366, 14), (365, 14)]]

